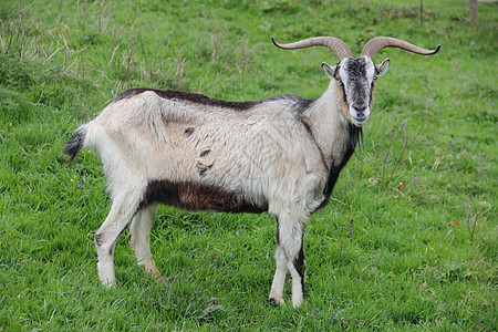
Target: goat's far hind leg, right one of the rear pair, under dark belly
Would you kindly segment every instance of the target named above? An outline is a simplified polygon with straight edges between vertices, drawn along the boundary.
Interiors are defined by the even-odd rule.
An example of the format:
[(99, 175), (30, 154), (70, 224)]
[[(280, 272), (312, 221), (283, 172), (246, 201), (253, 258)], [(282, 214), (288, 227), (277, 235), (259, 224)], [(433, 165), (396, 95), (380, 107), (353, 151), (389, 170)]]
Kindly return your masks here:
[(142, 208), (133, 217), (129, 227), (128, 241), (135, 251), (135, 257), (147, 273), (153, 274), (157, 281), (164, 281), (151, 253), (151, 228), (156, 215), (157, 204)]

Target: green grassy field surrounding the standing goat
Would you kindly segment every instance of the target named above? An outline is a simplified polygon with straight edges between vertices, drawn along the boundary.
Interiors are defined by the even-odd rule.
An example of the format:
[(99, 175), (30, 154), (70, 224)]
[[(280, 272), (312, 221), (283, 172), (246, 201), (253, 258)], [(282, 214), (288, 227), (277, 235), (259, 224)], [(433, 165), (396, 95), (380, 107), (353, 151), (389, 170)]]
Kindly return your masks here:
[[(0, 2), (0, 331), (475, 330), (497, 324), (498, 6), (467, 1)], [(94, 231), (110, 199), (98, 158), (68, 167), (65, 142), (120, 92), (177, 89), (247, 101), (319, 96), (335, 35), (359, 54), (395, 49), (365, 148), (307, 225), (307, 298), (267, 301), (276, 221), (160, 207), (152, 250), (169, 283), (136, 266), (123, 236), (118, 287), (97, 278)], [(289, 283), (290, 284), (290, 283)], [(286, 288), (290, 303), (290, 288)]]

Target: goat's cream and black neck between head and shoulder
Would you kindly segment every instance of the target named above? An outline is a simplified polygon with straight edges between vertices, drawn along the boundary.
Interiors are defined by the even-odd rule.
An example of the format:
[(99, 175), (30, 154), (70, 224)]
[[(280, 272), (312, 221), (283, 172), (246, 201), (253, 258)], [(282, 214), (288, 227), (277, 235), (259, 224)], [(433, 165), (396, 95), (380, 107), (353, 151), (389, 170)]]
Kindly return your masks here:
[(345, 118), (342, 92), (336, 82), (311, 105), (304, 114), (314, 139), (330, 167), (342, 167), (357, 142), (356, 128)]

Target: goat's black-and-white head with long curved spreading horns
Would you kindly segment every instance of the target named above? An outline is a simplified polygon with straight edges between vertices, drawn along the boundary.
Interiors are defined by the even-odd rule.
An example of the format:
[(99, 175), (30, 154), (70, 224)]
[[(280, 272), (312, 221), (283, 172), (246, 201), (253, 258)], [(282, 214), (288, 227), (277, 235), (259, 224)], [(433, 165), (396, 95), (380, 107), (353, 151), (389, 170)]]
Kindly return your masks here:
[(386, 73), (391, 63), (386, 59), (380, 65), (375, 65), (373, 58), (376, 52), (384, 48), (400, 48), (417, 54), (430, 55), (437, 53), (440, 48), (438, 45), (435, 50), (425, 50), (395, 38), (376, 37), (365, 44), (360, 58), (354, 58), (347, 44), (334, 37), (314, 37), (290, 44), (277, 43), (273, 38), (271, 40), (276, 46), (284, 50), (325, 46), (339, 56), (340, 61), (336, 65), (331, 66), (323, 62), (322, 69), (339, 84), (344, 102), (343, 115), (356, 127), (362, 127), (369, 121), (375, 80)]

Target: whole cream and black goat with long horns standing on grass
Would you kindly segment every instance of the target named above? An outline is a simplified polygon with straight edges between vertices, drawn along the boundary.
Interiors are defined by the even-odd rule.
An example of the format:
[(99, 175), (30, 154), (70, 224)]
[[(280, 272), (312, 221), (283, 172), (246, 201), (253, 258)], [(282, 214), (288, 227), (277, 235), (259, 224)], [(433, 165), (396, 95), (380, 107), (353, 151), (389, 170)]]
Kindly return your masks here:
[(370, 40), (360, 58), (340, 39), (317, 37), (274, 45), (325, 46), (340, 59), (322, 63), (331, 79), (318, 98), (280, 95), (227, 102), (178, 91), (131, 89), (82, 125), (64, 153), (70, 163), (83, 147), (100, 155), (112, 196), (95, 234), (98, 278), (115, 284), (114, 249), (131, 224), (128, 240), (138, 264), (162, 280), (149, 248), (159, 203), (186, 210), (268, 211), (277, 219), (277, 269), (269, 299), (283, 304), (292, 277), (292, 304), (302, 303), (303, 235), (310, 215), (324, 207), (339, 173), (362, 139), (375, 80), (390, 65), (372, 59), (383, 48), (425, 50), (394, 38)]

